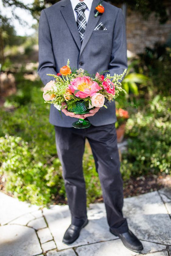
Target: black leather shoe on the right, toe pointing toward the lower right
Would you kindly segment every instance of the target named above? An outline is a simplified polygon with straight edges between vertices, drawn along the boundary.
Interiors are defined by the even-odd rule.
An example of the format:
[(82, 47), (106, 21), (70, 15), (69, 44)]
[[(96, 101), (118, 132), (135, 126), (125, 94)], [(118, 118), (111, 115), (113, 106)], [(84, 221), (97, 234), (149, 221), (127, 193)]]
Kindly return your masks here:
[(120, 237), (120, 239), (122, 240), (123, 244), (125, 247), (127, 247), (128, 249), (135, 251), (135, 252), (140, 252), (143, 250), (143, 246), (141, 244), (141, 242), (139, 241), (139, 239), (132, 233), (131, 230), (128, 230), (125, 233), (116, 233), (113, 232), (110, 229), (110, 232), (117, 236)]

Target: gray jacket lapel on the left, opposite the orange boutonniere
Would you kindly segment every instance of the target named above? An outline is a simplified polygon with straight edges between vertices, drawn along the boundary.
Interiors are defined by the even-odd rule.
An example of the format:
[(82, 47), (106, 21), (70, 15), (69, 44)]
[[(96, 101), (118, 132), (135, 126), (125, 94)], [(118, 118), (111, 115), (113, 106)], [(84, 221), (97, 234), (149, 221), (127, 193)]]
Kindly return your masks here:
[(75, 40), (78, 48), (81, 48), (81, 39), (78, 32), (77, 23), (75, 21), (74, 12), (72, 10), (72, 5), (70, 0), (66, 0), (61, 3), (61, 13), (65, 19), (65, 22), (68, 25), (69, 30), (71, 31), (72, 37)]

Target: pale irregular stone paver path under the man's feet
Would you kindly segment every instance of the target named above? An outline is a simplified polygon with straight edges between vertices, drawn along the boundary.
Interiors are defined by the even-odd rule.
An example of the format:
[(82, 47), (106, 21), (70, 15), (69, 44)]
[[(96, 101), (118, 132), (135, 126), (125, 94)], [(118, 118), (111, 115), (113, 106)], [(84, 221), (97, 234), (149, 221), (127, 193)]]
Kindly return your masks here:
[[(141, 255), (171, 256), (171, 188), (124, 199), (124, 217), (141, 240)], [(89, 224), (70, 245), (68, 205), (40, 210), (0, 193), (0, 256), (135, 256), (109, 232), (104, 203), (88, 208)]]

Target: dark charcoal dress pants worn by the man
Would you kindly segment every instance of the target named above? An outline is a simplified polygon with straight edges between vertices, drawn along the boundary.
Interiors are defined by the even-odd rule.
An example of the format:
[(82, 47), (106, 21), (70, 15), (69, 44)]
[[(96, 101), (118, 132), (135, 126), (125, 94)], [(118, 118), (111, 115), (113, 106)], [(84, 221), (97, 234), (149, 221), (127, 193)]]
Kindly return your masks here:
[(127, 220), (122, 213), (123, 181), (115, 124), (91, 125), (85, 129), (54, 127), (72, 224), (81, 225), (87, 218), (85, 181), (82, 171), (82, 157), (85, 138), (87, 138), (99, 174), (109, 227), (114, 232), (128, 231)]

